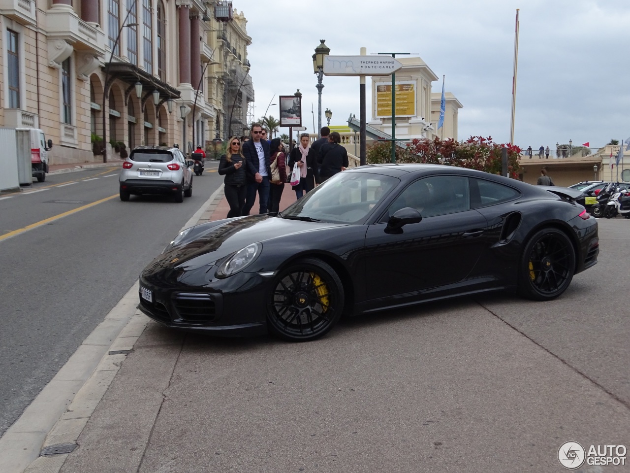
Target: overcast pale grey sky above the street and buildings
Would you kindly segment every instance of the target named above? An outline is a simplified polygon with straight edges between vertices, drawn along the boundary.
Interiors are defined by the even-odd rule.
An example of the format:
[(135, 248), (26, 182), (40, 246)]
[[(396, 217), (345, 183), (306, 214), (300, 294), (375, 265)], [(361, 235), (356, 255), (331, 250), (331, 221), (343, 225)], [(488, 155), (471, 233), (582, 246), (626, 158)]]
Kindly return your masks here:
[[(248, 20), (255, 117), (278, 95), (302, 92), (302, 117), (317, 126), (318, 96), (311, 56), (319, 40), (331, 55), (414, 52), (459, 110), (459, 139), (510, 139), (516, 9), (520, 8), (515, 143), (522, 148), (604, 146), (630, 137), (630, 1), (628, 0), (234, 0)], [(331, 125), (358, 117), (358, 78), (324, 76), (322, 110)], [(367, 119), (372, 118), (367, 79)], [(432, 84), (442, 90), (441, 81)], [(275, 98), (272, 97), (275, 94)], [(271, 102), (270, 102), (271, 101)], [(277, 118), (278, 107), (269, 114)], [(323, 115), (323, 114), (322, 114)], [(326, 119), (322, 117), (323, 124)], [(285, 130), (283, 129), (282, 132)]]

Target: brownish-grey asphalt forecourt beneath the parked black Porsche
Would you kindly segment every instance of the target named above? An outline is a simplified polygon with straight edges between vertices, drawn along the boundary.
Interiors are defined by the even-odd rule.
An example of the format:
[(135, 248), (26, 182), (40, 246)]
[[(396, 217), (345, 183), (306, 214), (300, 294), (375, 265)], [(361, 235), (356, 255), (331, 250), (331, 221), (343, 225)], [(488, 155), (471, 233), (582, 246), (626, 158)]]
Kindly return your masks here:
[(61, 471), (539, 473), (565, 471), (566, 441), (630, 447), (630, 221), (599, 222), (599, 264), (550, 302), (432, 303), (300, 344), (149, 322)]

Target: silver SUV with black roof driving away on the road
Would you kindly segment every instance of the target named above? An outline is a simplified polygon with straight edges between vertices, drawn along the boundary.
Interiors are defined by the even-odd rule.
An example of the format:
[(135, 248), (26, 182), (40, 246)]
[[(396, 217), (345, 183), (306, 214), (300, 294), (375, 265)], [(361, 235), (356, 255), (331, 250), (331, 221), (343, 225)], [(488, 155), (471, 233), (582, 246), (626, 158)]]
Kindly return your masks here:
[(172, 194), (175, 202), (193, 195), (193, 161), (186, 161), (178, 148), (139, 146), (122, 163), (120, 200), (134, 194)]

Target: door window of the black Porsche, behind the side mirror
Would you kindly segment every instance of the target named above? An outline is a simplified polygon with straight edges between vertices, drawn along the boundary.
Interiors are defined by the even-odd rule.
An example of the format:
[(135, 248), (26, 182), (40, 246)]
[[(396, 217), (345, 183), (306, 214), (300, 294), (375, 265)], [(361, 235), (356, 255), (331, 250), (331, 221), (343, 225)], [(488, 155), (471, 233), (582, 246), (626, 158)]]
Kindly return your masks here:
[(389, 216), (403, 207), (412, 207), (423, 217), (469, 210), (468, 179), (461, 176), (434, 176), (417, 180), (404, 189), (389, 207)]

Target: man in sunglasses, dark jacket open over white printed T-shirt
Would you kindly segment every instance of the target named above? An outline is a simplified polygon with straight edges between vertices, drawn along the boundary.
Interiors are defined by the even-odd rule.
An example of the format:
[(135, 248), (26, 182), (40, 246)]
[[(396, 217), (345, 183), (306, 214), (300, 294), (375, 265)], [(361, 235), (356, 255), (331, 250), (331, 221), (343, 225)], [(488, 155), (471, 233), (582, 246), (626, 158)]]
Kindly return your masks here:
[(270, 168), (269, 143), (261, 139), (263, 127), (255, 123), (251, 126), (251, 139), (243, 144), (243, 155), (245, 156), (245, 175), (247, 177), (247, 196), (243, 215), (249, 215), (251, 207), (258, 201), (260, 211), (267, 213), (267, 202), (269, 200), (269, 177), (272, 175)]

